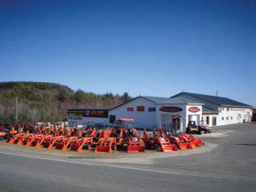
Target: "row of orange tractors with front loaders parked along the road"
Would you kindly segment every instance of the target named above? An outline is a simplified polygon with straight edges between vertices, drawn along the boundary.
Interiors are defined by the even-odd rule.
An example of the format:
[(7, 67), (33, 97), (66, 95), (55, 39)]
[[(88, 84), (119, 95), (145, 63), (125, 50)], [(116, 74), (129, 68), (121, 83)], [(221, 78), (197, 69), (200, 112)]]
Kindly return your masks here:
[(168, 136), (164, 128), (153, 130), (148, 134), (143, 131), (139, 137), (135, 128), (114, 127), (103, 130), (96, 128), (71, 130), (60, 127), (58, 129), (38, 128), (33, 133), (16, 133), (10, 135), (8, 143), (32, 146), (35, 148), (49, 148), (81, 152), (83, 149), (95, 150), (96, 153), (111, 153), (113, 150), (128, 153), (145, 152), (154, 149), (161, 152), (199, 148), (202, 141), (186, 133)]

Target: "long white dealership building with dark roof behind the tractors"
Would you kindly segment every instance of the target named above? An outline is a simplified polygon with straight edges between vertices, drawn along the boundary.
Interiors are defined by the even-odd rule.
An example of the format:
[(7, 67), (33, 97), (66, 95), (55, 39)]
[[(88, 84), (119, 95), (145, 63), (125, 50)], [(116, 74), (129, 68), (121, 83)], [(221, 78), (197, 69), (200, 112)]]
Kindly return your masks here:
[(135, 120), (138, 128), (175, 126), (185, 131), (189, 120), (197, 125), (230, 125), (250, 122), (253, 108), (226, 97), (182, 92), (170, 98), (137, 96), (111, 109), (69, 109), (68, 123), (82, 125), (87, 122), (109, 124), (120, 118)]

